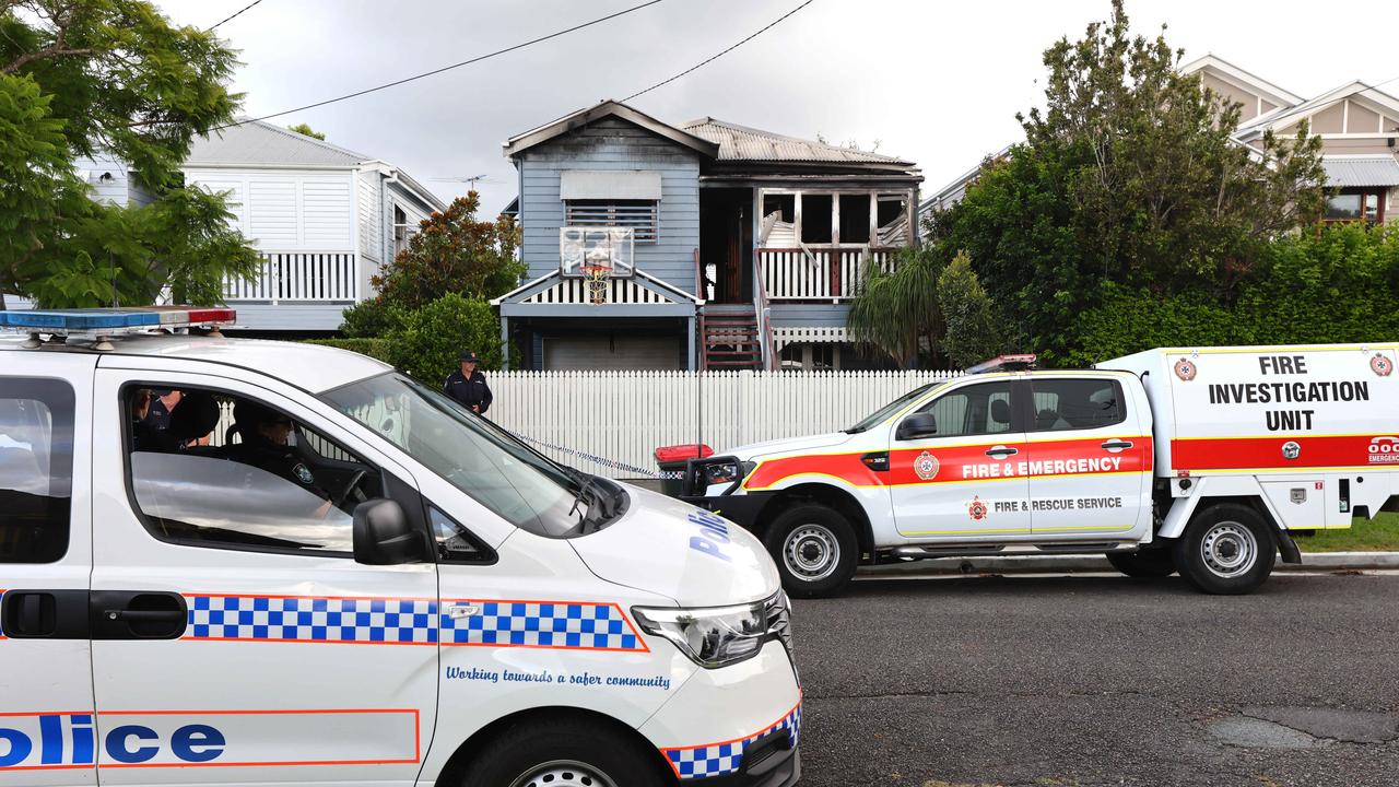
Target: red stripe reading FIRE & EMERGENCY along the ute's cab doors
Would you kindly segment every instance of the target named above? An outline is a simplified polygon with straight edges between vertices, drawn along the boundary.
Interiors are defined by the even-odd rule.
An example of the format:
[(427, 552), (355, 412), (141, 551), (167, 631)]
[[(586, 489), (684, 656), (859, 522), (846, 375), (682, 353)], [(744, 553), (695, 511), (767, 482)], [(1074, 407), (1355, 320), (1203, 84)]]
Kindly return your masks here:
[[(1009, 436), (1007, 436), (1009, 437)], [(1126, 441), (1130, 448), (1111, 452), (1108, 441)], [(1017, 448), (1006, 458), (988, 457), (995, 445)], [(918, 473), (923, 452), (937, 462), (932, 478)], [(922, 483), (990, 482), (1066, 475), (1151, 472), (1151, 438), (1146, 436), (1090, 437), (1072, 440), (995, 441), (964, 445), (900, 448), (888, 452), (888, 471), (873, 471), (860, 461), (867, 452), (807, 454), (761, 462), (743, 482), (747, 490), (764, 490), (793, 476), (827, 476), (849, 486), (908, 486)], [(926, 466), (925, 466), (926, 472)]]

